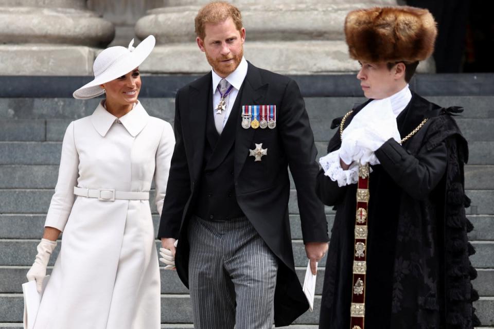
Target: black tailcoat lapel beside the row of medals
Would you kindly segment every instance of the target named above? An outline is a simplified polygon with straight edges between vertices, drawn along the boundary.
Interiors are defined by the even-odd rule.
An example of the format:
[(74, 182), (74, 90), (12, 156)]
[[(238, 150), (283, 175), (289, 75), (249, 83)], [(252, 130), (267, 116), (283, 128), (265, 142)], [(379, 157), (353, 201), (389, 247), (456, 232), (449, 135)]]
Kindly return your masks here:
[[(232, 108), (232, 111), (242, 111), (243, 105), (260, 105), (268, 92), (268, 84), (262, 83), (259, 69), (251, 63), (249, 63), (242, 89), (240, 103), (238, 104), (235, 102), (235, 105), (238, 104), (238, 107)], [(249, 149), (255, 132), (255, 129), (253, 128), (242, 128), (241, 123), (242, 116), (239, 115), (237, 117), (237, 132), (235, 136), (235, 180), (237, 180), (238, 175), (242, 170), (245, 159), (249, 156)]]

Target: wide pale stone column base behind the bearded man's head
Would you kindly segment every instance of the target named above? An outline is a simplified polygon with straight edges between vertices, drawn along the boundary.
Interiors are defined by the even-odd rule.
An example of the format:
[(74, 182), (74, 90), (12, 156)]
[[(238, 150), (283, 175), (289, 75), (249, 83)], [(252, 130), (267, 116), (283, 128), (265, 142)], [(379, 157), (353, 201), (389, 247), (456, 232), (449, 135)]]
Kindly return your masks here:
[[(149, 10), (147, 16), (137, 21), (136, 35), (143, 39), (153, 34), (158, 44), (141, 68), (166, 74), (208, 71), (210, 67), (195, 43), (194, 33), (194, 17), (208, 2), (167, 0), (166, 7)], [(397, 5), (396, 0), (231, 2), (242, 12), (246, 29), (245, 57), (259, 67), (281, 74), (357, 71), (359, 65), (348, 57), (344, 41), (343, 23), (347, 12)]]

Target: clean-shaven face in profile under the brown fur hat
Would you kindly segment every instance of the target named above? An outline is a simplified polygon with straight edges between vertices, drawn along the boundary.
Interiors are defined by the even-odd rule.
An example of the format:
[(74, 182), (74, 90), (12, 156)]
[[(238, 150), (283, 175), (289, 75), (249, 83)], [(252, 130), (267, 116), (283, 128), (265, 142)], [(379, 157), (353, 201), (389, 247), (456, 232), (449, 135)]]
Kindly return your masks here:
[(360, 86), (367, 98), (383, 99), (390, 97), (399, 92), (405, 85), (404, 70), (400, 70), (404, 65), (399, 64), (391, 68), (387, 68), (385, 62), (369, 63), (359, 62), (361, 65), (360, 71), (357, 74), (357, 79), (360, 80)]

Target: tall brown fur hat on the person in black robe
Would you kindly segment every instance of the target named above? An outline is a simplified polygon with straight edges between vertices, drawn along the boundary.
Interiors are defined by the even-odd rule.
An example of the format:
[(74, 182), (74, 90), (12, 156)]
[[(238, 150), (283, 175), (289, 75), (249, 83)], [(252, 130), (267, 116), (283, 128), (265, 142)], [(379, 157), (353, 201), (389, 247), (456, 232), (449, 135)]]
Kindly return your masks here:
[(416, 62), (434, 51), (437, 27), (427, 9), (376, 7), (350, 11), (345, 36), (350, 57), (365, 62)]

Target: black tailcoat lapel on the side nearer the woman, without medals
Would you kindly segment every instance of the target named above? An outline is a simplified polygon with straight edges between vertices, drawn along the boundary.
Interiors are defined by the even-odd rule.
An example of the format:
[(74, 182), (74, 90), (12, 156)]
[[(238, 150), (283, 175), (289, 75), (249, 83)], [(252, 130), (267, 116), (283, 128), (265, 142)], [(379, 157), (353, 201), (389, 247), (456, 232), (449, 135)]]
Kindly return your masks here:
[(199, 179), (204, 157), (204, 141), (206, 138), (206, 114), (213, 111), (210, 101), (211, 73), (192, 82), (189, 86), (189, 120), (193, 139), (193, 177)]

